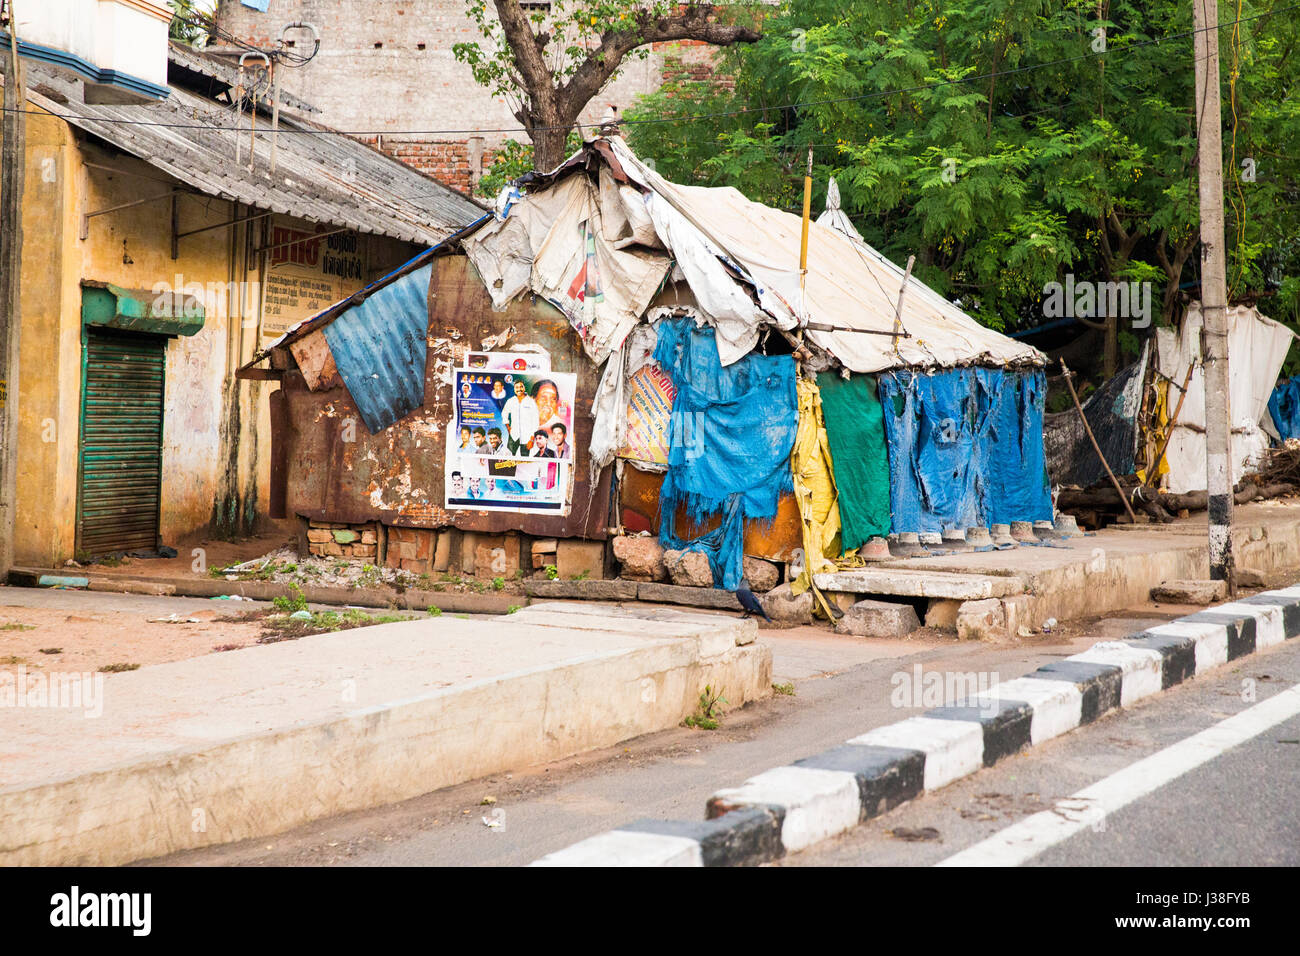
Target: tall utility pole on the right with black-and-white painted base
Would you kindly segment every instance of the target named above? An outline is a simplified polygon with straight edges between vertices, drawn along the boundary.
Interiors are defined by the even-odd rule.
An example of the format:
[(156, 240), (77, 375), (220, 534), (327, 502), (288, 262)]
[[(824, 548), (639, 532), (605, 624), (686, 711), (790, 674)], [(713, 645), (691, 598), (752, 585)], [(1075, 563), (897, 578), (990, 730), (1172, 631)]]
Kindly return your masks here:
[(1201, 200), (1201, 355), (1205, 363), (1205, 490), (1210, 578), (1232, 580), (1231, 408), (1227, 364), (1227, 250), (1223, 246), (1223, 139), (1218, 1), (1192, 0), (1196, 60), (1196, 170)]

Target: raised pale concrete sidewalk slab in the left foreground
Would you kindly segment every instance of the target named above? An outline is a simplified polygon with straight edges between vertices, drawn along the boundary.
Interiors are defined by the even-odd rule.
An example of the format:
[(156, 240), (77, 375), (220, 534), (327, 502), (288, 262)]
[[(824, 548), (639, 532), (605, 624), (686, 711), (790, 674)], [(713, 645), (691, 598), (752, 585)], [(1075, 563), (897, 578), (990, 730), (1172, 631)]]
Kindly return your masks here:
[(94, 675), (100, 693), (77, 706), (17, 706), (10, 691), (0, 864), (121, 864), (608, 747), (676, 726), (705, 684), (733, 706), (771, 695), (755, 633), (543, 604)]

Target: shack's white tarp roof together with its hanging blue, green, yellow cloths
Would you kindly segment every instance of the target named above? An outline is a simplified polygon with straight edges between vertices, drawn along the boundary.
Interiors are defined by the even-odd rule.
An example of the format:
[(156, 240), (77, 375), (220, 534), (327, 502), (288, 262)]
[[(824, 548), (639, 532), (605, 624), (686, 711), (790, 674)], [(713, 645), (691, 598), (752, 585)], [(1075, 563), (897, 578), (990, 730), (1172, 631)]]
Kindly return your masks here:
[[(905, 280), (842, 212), (811, 225), (801, 274), (798, 216), (672, 183), (618, 137), (497, 208), (462, 241), (494, 306), (545, 298), (604, 367), (593, 468), (627, 444), (632, 376), (676, 386), (666, 458), (633, 463), (667, 470), (660, 538), (708, 553), (719, 584), (738, 581), (741, 522), (784, 490), (814, 571), (890, 531), (1052, 518), (1043, 354)], [(679, 505), (722, 524), (684, 541)]]

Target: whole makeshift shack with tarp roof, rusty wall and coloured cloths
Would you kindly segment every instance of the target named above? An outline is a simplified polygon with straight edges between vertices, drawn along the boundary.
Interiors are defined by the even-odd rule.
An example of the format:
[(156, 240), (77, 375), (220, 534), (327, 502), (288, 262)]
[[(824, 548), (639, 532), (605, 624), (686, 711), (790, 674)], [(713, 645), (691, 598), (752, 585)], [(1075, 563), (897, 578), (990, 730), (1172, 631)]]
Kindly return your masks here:
[(283, 512), (430, 572), (599, 576), (653, 532), (729, 589), (1050, 520), (1043, 354), (835, 224), (801, 273), (801, 226), (616, 135), (524, 177), (273, 345)]

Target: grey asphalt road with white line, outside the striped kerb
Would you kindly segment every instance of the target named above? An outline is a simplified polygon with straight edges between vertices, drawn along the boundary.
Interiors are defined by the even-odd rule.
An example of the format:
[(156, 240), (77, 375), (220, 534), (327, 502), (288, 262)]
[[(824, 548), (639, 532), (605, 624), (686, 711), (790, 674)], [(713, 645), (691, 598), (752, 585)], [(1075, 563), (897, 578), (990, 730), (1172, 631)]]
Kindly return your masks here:
[[(1291, 710), (1300, 709), (1294, 704), (1300, 691), (1291, 691), (1297, 685), (1300, 644), (1291, 641), (980, 770), (777, 865), (1008, 858), (1032, 866), (1300, 865), (1300, 715), (1248, 726), (1226, 749), (1214, 740), (1244, 723), (1266, 723), (1256, 718), (1277, 695), (1286, 696), (1274, 708), (1291, 702)], [(1209, 728), (1216, 730), (1205, 734)], [(1108, 800), (1122, 805), (1110, 809)]]

